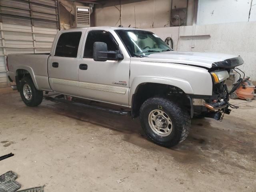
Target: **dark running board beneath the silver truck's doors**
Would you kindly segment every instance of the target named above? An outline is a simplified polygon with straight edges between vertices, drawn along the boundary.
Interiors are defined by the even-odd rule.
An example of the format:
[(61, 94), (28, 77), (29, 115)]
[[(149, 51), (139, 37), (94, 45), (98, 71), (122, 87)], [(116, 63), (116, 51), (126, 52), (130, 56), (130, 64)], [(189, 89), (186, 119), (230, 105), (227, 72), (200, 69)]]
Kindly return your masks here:
[(110, 109), (110, 108), (95, 106), (95, 105), (88, 105), (88, 104), (84, 104), (84, 103), (81, 103), (81, 102), (68, 101), (68, 100), (65, 100), (62, 95), (58, 95), (54, 98), (50, 97), (50, 96), (45, 96), (44, 98), (46, 100), (51, 100), (51, 101), (54, 100), (54, 101), (57, 101), (57, 102), (69, 103), (69, 104), (72, 104), (72, 105), (75, 105), (75, 106), (86, 107), (86, 108), (91, 108), (91, 109), (98, 109), (98, 110), (102, 110), (104, 112), (108, 112), (108, 113), (112, 113), (112, 114), (116, 114), (116, 115), (122, 115), (122, 116), (131, 115), (130, 111), (116, 110), (116, 109)]

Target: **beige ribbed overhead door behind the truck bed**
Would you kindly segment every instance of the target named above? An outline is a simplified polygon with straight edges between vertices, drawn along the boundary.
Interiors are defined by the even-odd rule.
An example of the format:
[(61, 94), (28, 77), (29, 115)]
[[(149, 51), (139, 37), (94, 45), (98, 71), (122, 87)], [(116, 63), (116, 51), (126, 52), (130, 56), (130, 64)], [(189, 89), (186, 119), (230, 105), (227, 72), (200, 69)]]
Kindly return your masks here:
[(56, 0), (0, 0), (0, 87), (8, 84), (6, 56), (50, 52), (58, 28)]

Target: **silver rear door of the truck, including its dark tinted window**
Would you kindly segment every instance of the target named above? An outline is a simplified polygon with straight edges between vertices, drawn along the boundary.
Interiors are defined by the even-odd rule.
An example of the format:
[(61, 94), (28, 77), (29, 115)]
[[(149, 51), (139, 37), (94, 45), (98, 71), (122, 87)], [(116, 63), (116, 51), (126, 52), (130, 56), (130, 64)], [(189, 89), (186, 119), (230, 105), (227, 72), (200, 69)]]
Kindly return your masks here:
[[(48, 60), (49, 83), (54, 92), (77, 96), (78, 50), (82, 32), (63, 32)], [(82, 44), (82, 43), (81, 43)]]

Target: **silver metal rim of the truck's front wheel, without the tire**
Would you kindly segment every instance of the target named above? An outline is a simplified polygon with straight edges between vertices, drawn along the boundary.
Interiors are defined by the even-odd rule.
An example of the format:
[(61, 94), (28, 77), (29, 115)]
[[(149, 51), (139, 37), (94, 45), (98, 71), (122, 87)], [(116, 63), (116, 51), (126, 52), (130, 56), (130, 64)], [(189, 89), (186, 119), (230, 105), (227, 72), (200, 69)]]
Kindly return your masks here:
[(162, 110), (152, 110), (148, 115), (148, 124), (159, 136), (166, 137), (172, 132), (172, 120)]

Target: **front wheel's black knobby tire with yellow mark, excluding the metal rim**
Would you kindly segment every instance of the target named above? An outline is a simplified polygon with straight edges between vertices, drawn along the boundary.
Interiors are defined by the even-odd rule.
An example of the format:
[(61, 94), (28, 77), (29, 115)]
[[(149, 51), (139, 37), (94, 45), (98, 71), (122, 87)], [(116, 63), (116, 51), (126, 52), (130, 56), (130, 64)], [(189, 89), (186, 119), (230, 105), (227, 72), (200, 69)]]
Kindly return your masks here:
[[(172, 132), (168, 136), (159, 136), (150, 128), (148, 115), (152, 110), (160, 108), (172, 121)], [(140, 123), (150, 140), (165, 147), (172, 147), (184, 141), (188, 136), (191, 118), (187, 110), (180, 104), (167, 98), (154, 97), (149, 98), (142, 104), (140, 108)]]

